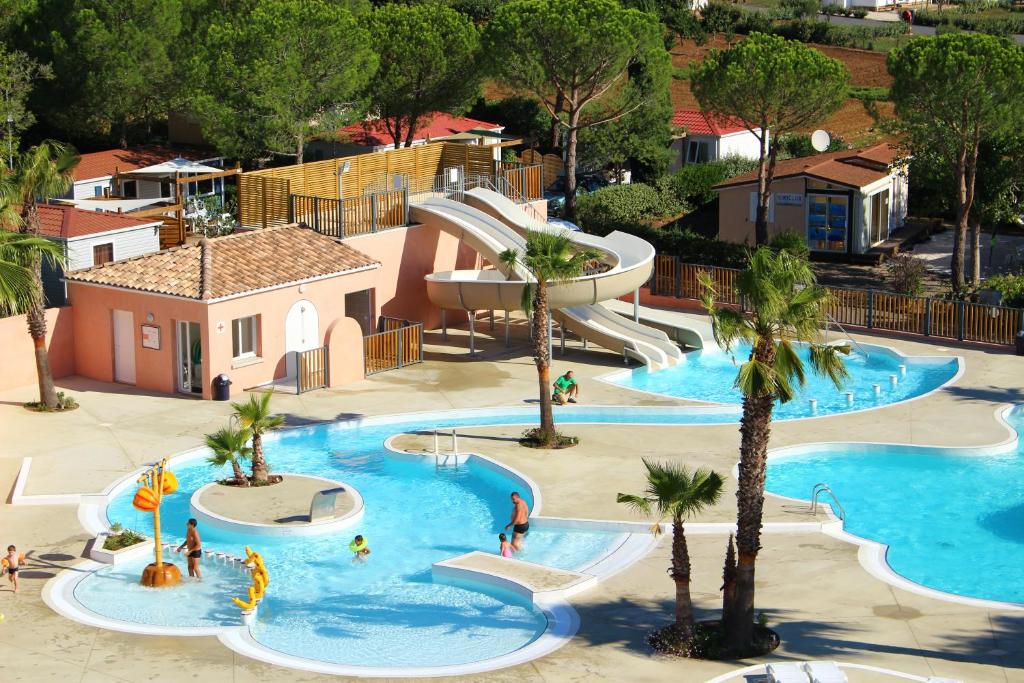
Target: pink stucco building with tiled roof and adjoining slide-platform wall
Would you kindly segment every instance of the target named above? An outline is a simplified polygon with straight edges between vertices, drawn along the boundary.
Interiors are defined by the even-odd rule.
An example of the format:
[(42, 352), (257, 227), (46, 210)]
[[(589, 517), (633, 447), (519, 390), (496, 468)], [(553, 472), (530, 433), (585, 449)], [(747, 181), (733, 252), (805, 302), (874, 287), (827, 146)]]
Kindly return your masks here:
[(210, 398), (220, 374), (237, 394), (326, 348), (326, 384), (340, 386), (362, 379), (379, 315), (436, 325), (424, 274), (476, 258), (424, 225), (344, 243), (286, 225), (79, 270), (67, 276), (75, 373)]

